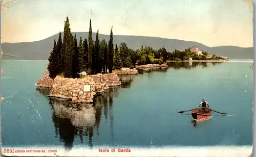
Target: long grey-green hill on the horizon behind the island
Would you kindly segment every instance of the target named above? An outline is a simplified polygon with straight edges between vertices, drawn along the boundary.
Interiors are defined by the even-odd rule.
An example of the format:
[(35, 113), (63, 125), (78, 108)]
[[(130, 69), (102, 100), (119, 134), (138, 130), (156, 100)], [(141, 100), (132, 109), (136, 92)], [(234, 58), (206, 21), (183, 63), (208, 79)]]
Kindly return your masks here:
[[(74, 32), (77, 39), (80, 37), (88, 38), (88, 32)], [(61, 33), (63, 39), (63, 32)], [(93, 39), (96, 33), (93, 33)], [(109, 41), (109, 35), (99, 34), (99, 39)], [(2, 43), (4, 51), (3, 59), (21, 59), (21, 60), (47, 60), (53, 47), (53, 39), (58, 40), (58, 34), (40, 41), (20, 42), (20, 43)], [(178, 39), (166, 39), (159, 37), (143, 36), (124, 36), (114, 35), (114, 44), (120, 45), (121, 42), (127, 43), (129, 48), (139, 49), (141, 45), (151, 46), (159, 49), (164, 46), (168, 51), (174, 49), (184, 50), (185, 48), (197, 46), (200, 50), (208, 51), (210, 55), (225, 56), (230, 59), (253, 59), (253, 48), (237, 46), (218, 46), (208, 47), (204, 44), (194, 41), (184, 41)], [(7, 54), (7, 55), (5, 55)], [(19, 58), (15, 57), (18, 56)]]

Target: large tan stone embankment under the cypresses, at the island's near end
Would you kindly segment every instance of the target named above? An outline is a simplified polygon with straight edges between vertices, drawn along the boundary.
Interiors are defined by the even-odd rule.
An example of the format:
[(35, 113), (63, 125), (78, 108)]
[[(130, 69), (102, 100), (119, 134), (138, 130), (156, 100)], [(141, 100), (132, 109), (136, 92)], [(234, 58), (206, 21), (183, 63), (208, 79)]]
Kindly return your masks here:
[[(83, 85), (90, 85), (91, 91), (84, 91)], [(119, 86), (121, 81), (116, 73), (88, 75), (83, 79), (63, 78), (56, 76), (55, 79), (46, 73), (36, 82), (38, 87), (51, 88), (49, 96), (70, 99), (74, 102), (93, 102), (94, 95), (103, 92), (111, 86)]]

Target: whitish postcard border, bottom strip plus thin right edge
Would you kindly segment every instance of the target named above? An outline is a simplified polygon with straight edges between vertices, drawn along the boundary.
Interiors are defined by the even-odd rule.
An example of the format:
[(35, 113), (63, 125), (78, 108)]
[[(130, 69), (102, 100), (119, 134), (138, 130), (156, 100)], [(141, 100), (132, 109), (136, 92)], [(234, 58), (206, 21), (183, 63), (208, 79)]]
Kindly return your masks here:
[[(225, 0), (223, 0), (225, 1)], [(242, 1), (242, 0), (241, 0)], [(246, 1), (246, 0), (244, 0)], [(254, 3), (256, 0), (253, 1), (253, 7)], [(1, 15), (2, 13), (0, 13)], [(253, 12), (253, 23), (255, 22), (256, 16), (255, 13)], [(1, 20), (0, 20), (1, 23)], [(0, 24), (1, 25), (1, 24)], [(255, 29), (253, 27), (253, 41), (255, 39)], [(1, 36), (1, 32), (0, 32)], [(1, 40), (1, 38), (0, 38)], [(253, 55), (254, 55), (254, 47), (256, 47), (256, 44), (253, 42)], [(256, 59), (254, 55), (254, 60)], [(1, 64), (2, 61), (0, 60), (0, 69), (1, 69)], [(255, 74), (255, 65), (253, 64), (253, 82), (254, 82), (254, 74)], [(2, 95), (2, 80), (0, 79), (0, 95)], [(256, 86), (253, 84), (253, 95), (255, 99), (255, 89)], [(253, 100), (254, 101), (254, 100)], [(253, 111), (255, 111), (255, 106), (253, 106)], [(0, 113), (1, 113), (1, 108), (0, 108)], [(253, 112), (253, 126), (255, 125), (255, 120), (254, 120), (254, 112)], [(0, 123), (1, 123), (1, 116), (0, 116)], [(1, 129), (0, 129), (1, 133)], [(253, 144), (255, 141), (255, 136), (256, 130), (253, 129)], [(1, 141), (1, 138), (0, 138)], [(0, 142), (2, 144), (2, 142)], [(101, 147), (104, 148), (104, 147)], [(2, 148), (5, 149), (5, 148)], [(12, 148), (11, 148), (12, 149)], [(238, 146), (238, 147), (228, 147), (228, 146), (222, 146), (222, 147), (164, 147), (164, 148), (131, 148), (131, 152), (114, 152), (114, 153), (99, 153), (98, 149), (82, 149), (82, 148), (73, 148), (71, 151), (66, 152), (63, 148), (61, 147), (27, 147), (27, 148), (15, 148), (16, 150), (29, 150), (29, 149), (56, 149), (57, 153), (14, 153), (14, 154), (2, 154), (3, 155), (8, 155), (8, 156), (249, 156), (252, 146)], [(110, 148), (111, 149), (111, 148)], [(254, 151), (254, 148), (253, 148)], [(252, 154), (252, 156), (255, 156)]]

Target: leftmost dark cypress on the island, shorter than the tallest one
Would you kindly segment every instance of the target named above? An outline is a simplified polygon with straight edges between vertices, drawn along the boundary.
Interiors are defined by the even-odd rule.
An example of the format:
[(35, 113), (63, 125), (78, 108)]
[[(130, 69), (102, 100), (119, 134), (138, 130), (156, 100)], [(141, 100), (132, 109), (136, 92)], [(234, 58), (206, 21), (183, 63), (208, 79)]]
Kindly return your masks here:
[(58, 58), (56, 58), (57, 57), (57, 53), (58, 53), (58, 51), (57, 51), (57, 44), (56, 44), (56, 41), (55, 41), (55, 39), (54, 39), (54, 44), (53, 44), (53, 49), (52, 49), (52, 52), (51, 52), (51, 54), (50, 54), (50, 57), (48, 58), (48, 61), (49, 61), (49, 64), (48, 64), (48, 67), (47, 67), (47, 69), (48, 69), (48, 71), (49, 71), (49, 76), (52, 78), (52, 79), (54, 79), (55, 77), (56, 77), (56, 75), (57, 75), (57, 73), (58, 73), (58, 69), (56, 69), (56, 61), (57, 61), (57, 59)]

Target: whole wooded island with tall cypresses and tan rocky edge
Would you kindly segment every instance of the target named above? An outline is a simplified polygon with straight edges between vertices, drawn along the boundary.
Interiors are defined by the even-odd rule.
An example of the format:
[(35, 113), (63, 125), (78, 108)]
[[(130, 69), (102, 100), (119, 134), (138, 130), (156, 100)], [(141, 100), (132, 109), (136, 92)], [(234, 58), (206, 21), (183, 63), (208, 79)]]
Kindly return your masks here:
[(143, 69), (167, 68), (167, 60), (205, 59), (208, 55), (206, 52), (198, 55), (193, 49), (170, 53), (164, 47), (155, 50), (146, 45), (134, 50), (124, 42), (114, 47), (112, 30), (113, 27), (108, 42), (99, 40), (99, 30), (93, 40), (90, 19), (88, 39), (80, 37), (77, 41), (67, 17), (63, 40), (59, 32), (58, 41), (53, 41), (47, 70), (36, 82), (36, 88), (47, 88), (51, 97), (92, 103), (97, 93), (120, 86), (120, 75), (138, 74), (138, 70)]

